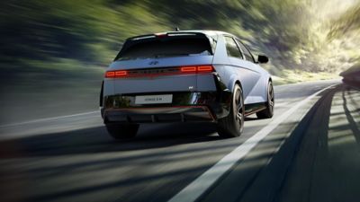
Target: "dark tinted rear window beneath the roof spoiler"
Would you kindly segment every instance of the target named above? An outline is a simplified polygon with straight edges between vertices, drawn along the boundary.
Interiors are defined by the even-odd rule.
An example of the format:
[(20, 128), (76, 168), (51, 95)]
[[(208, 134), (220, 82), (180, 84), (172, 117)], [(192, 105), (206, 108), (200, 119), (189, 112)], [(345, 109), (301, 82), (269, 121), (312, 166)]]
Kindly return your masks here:
[(211, 55), (211, 43), (205, 35), (153, 36), (127, 40), (115, 60)]

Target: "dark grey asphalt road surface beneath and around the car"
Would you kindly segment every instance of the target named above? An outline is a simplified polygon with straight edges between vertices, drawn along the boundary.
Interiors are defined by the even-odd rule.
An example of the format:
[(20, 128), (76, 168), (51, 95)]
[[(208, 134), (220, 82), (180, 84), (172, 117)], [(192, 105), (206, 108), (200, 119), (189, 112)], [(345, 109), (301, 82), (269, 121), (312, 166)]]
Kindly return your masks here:
[(237, 138), (163, 124), (116, 142), (98, 111), (3, 125), (0, 201), (192, 201), (194, 181), (198, 201), (359, 201), (359, 112), (360, 92), (323, 81), (275, 86), (275, 117)]

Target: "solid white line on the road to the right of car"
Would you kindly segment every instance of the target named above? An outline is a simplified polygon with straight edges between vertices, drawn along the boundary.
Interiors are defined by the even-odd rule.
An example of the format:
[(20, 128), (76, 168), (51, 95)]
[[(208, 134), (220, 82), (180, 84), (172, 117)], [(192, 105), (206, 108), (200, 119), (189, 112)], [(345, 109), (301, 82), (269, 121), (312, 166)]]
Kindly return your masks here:
[(205, 171), (201, 176), (193, 180), (193, 182), (182, 189), (173, 198), (170, 198), (168, 202), (196, 201), (202, 196), (203, 193), (205, 193), (206, 190), (210, 189), (211, 186), (215, 184), (215, 182), (219, 180), (225, 172), (229, 171), (229, 169), (236, 162), (242, 159), (252, 148), (254, 148), (261, 140), (270, 134), (270, 132), (273, 131), (275, 127), (278, 127), (282, 122), (284, 122), (285, 119), (292, 115), (295, 110), (298, 110), (302, 107), (302, 105), (305, 105), (311, 101), (311, 99), (317, 96), (320, 92), (324, 92), (337, 84), (330, 85), (329, 87), (311, 94), (306, 99), (298, 102), (290, 110), (285, 111), (284, 114), (271, 121), (268, 125), (266, 125), (266, 127), (263, 127), (254, 136), (248, 138), (247, 141), (241, 145), (238, 145), (238, 147), (235, 148), (231, 153), (220, 159), (220, 161), (213, 165), (208, 171)]

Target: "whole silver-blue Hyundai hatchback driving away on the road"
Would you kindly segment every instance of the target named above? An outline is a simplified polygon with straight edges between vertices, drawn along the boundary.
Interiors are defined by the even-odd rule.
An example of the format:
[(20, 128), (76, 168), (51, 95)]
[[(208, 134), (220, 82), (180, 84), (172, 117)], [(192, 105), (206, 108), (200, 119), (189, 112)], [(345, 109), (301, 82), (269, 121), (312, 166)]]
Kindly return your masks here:
[(232, 34), (169, 31), (125, 41), (106, 71), (103, 122), (116, 138), (136, 136), (140, 123), (207, 121), (223, 137), (240, 136), (244, 118), (272, 118), (272, 78)]

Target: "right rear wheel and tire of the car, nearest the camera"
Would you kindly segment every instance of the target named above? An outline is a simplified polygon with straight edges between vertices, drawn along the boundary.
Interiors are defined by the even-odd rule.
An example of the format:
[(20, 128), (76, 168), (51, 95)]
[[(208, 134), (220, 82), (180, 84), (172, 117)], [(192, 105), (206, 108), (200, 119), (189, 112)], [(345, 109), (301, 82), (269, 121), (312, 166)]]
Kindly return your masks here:
[(240, 136), (244, 130), (244, 97), (238, 84), (234, 87), (229, 115), (218, 121), (219, 136)]

